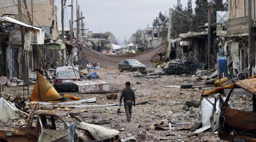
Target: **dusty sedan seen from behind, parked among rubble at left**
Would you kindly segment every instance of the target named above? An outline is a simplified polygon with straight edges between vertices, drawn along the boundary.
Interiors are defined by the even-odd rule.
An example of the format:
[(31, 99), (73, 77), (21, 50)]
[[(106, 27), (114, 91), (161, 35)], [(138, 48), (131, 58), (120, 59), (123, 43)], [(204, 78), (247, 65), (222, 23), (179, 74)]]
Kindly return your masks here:
[[(75, 76), (76, 75), (76, 76)], [(59, 71), (56, 74), (54, 88), (56, 90), (78, 90), (78, 86), (72, 81), (80, 80), (79, 74), (77, 71)]]

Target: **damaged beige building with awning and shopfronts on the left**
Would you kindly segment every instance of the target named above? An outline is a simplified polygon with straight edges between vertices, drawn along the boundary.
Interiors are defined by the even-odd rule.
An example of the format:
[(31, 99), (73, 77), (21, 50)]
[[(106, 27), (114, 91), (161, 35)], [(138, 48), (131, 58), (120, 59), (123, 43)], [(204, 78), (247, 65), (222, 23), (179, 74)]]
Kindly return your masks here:
[[(4, 19), (1, 22), (0, 74), (7, 76), (7, 78), (13, 76), (24, 78), (22, 73), (23, 66), (26, 66), (24, 60), (27, 60), (28, 70), (38, 69), (42, 66), (41, 61), (44, 60), (40, 58), (43, 57), (41, 48), (44, 46), (44, 40), (57, 39), (55, 0), (0, 0), (0, 4), (3, 7), (0, 10), (2, 17), (9, 16), (17, 20), (7, 22), (7, 24)], [(27, 25), (24, 26), (24, 24)], [(37, 31), (32, 31), (31, 44), (25, 59), (23, 58), (25, 39), (22, 35), (26, 36), (24, 33), (27, 33), (26, 31), (32, 27), (40, 29), (43, 33), (37, 34)], [(21, 33), (23, 34), (21, 35)]]

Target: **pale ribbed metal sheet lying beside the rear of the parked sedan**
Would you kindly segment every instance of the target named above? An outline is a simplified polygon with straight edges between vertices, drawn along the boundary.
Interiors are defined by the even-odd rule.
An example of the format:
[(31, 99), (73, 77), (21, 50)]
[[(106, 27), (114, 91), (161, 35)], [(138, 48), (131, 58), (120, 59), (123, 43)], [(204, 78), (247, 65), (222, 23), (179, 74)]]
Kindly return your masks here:
[(109, 82), (102, 79), (91, 79), (84, 81), (74, 81), (76, 85), (79, 84), (80, 93), (94, 93), (109, 91)]

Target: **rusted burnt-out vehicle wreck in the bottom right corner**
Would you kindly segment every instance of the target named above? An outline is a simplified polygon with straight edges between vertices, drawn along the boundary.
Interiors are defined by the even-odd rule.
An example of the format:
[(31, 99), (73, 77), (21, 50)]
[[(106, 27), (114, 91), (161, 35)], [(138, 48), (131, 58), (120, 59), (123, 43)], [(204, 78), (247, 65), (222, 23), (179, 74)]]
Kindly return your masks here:
[[(241, 88), (252, 96), (250, 109), (240, 110), (230, 108), (234, 89)], [(237, 81), (233, 84), (227, 97), (220, 107), (218, 135), (227, 141), (256, 141), (256, 78)], [(250, 102), (251, 103), (251, 102)], [(246, 102), (244, 104), (250, 104)]]

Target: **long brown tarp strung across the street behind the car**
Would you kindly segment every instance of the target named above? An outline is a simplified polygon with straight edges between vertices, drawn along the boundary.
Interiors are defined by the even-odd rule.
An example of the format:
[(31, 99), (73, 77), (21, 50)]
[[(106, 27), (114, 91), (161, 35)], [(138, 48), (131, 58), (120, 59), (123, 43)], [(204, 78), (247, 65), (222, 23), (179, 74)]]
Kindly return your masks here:
[(163, 46), (159, 46), (150, 50), (146, 50), (140, 53), (128, 54), (128, 55), (106, 55), (101, 52), (97, 52), (87, 47), (81, 47), (82, 54), (86, 61), (90, 64), (99, 63), (102, 67), (116, 67), (117, 64), (123, 59), (137, 59), (141, 63), (149, 66), (150, 59), (154, 57), (158, 52), (163, 49)]

